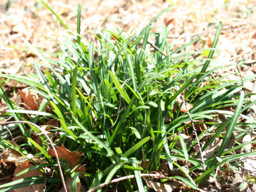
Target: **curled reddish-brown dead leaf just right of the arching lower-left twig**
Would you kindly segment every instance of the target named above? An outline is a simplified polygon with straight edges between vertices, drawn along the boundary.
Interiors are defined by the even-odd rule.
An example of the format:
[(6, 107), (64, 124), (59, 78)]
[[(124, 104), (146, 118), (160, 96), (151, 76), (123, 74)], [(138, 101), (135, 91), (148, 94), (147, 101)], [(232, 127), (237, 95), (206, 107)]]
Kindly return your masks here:
[[(57, 150), (58, 156), (62, 159), (65, 159), (71, 168), (74, 168), (82, 157), (82, 154), (79, 153), (78, 151), (70, 151), (66, 149), (63, 143), (61, 144), (60, 147), (56, 146), (55, 149)], [(48, 149), (48, 154), (51, 157), (56, 157), (53, 149)], [(79, 165), (75, 171), (85, 172), (85, 167), (82, 165)]]

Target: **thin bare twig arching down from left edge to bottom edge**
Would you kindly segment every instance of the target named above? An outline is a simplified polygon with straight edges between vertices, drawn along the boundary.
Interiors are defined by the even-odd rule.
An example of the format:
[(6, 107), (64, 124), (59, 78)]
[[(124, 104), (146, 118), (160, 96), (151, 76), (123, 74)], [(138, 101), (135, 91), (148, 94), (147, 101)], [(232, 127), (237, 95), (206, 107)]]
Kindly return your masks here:
[(38, 125), (36, 125), (35, 123), (31, 123), (31, 122), (26, 122), (26, 121), (11, 121), (11, 122), (4, 122), (4, 123), (0, 123), (0, 125), (9, 125), (9, 124), (12, 124), (12, 123), (26, 123), (26, 124), (30, 124), (30, 125), (33, 125), (35, 126), (44, 136), (45, 138), (47, 139), (47, 141), (49, 141), (50, 145), (52, 146), (52, 149), (54, 151), (54, 154), (56, 156), (56, 160), (57, 160), (57, 164), (58, 164), (58, 167), (59, 167), (59, 171), (60, 171), (60, 178), (61, 178), (61, 181), (62, 181), (62, 185), (63, 185), (63, 188), (65, 190), (65, 192), (68, 192), (67, 190), (67, 186), (66, 186), (66, 183), (65, 183), (65, 179), (63, 177), (63, 173), (62, 173), (62, 170), (61, 170), (61, 166), (60, 166), (60, 161), (59, 161), (59, 156), (58, 156), (58, 153), (51, 141), (51, 139), (49, 138), (49, 136), (43, 131), (41, 130), (41, 127), (39, 127)]

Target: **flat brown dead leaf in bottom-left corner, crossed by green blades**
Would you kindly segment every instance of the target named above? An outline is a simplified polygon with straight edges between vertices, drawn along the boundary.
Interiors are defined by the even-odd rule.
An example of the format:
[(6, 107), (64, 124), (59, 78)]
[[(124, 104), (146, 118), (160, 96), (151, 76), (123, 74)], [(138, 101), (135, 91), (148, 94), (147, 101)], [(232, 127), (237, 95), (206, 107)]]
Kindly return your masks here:
[[(39, 171), (39, 169), (36, 169), (36, 170), (29, 171), (25, 174), (22, 174), (19, 177), (15, 177), (15, 175), (18, 174), (19, 172), (21, 172), (21, 171), (23, 171), (23, 170), (25, 170), (29, 167), (32, 167), (32, 166), (34, 166), (34, 165), (31, 165), (31, 164), (28, 164), (28, 163), (18, 164), (17, 168), (14, 172), (13, 181), (16, 181), (16, 180), (19, 180), (19, 179), (22, 179), (22, 178), (43, 175), (43, 173), (41, 171)], [(15, 192), (25, 192), (25, 191), (26, 192), (36, 192), (36, 191), (43, 191), (43, 190), (44, 190), (44, 183), (14, 189)]]

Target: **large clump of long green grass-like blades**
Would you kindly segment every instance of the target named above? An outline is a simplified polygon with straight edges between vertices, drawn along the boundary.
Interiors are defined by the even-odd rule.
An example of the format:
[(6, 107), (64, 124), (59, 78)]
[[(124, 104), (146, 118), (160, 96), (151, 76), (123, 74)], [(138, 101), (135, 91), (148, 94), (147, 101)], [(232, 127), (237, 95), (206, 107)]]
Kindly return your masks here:
[[(50, 9), (47, 4), (46, 6)], [(19, 124), (6, 126), (15, 131), (15, 134), (23, 135), (27, 141), (15, 146), (8, 140), (10, 137), (2, 132), (0, 147), (18, 151), (27, 158), (28, 154), (34, 154), (46, 161), (38, 164), (29, 158), (34, 166), (22, 173), (42, 167), (53, 169), (52, 176), (46, 182), (46, 191), (61, 188), (58, 186), (64, 184), (62, 174), (69, 175), (72, 179), (72, 191), (77, 190), (78, 181), (83, 183), (86, 190), (101, 190), (100, 187), (95, 187), (110, 182), (108, 189), (114, 190), (116, 185), (113, 179), (122, 177), (127, 178), (118, 180), (117, 189), (120, 191), (148, 191), (151, 186), (147, 184), (147, 179), (142, 179), (146, 177), (161, 178), (162, 181), (158, 182), (162, 183), (175, 181), (179, 187), (185, 186), (183, 189), (190, 190), (203, 185), (210, 175), (214, 175), (217, 167), (255, 154), (250, 152), (227, 155), (241, 148), (240, 144), (225, 151), (234, 129), (237, 129), (239, 115), (255, 102), (250, 102), (249, 94), (243, 92), (241, 80), (223, 82), (222, 77), (211, 76), (221, 68), (212, 65), (221, 23), (212, 49), (209, 49), (209, 57), (194, 58), (193, 55), (204, 50), (190, 52), (188, 46), (198, 41), (199, 37), (179, 49), (174, 49), (175, 44), (167, 41), (170, 28), (164, 26), (158, 28), (157, 33), (151, 32), (151, 24), (161, 14), (135, 35), (130, 35), (131, 31), (124, 33), (118, 28), (116, 31), (102, 30), (97, 34), (92, 33), (97, 38), (95, 46), (93, 42), (87, 42), (79, 35), (79, 5), (77, 33), (70, 33), (67, 41), (60, 45), (58, 61), (45, 58), (27, 42), (42, 59), (40, 63), (34, 62), (36, 74), (1, 74), (1, 77), (25, 83), (30, 91), (41, 95), (44, 100), (39, 109), (19, 109), (0, 86), (1, 97), (9, 107), (2, 119), (15, 119)], [(61, 23), (68, 29), (62, 21)], [(149, 39), (154, 39), (155, 42), (149, 44)], [(40, 67), (47, 69), (42, 73)], [(244, 78), (243, 82), (252, 78)], [(46, 111), (47, 105), (51, 107), (52, 113)], [(217, 116), (215, 112), (226, 114), (223, 109), (230, 106), (235, 106), (236, 110), (227, 122), (220, 124), (210, 121)], [(44, 130), (38, 125), (44, 125), (46, 118), (60, 122), (60, 126), (49, 130), (55, 133), (50, 138), (47, 138), (46, 133), (39, 134)], [(19, 121), (34, 124), (25, 126), (24, 122)], [(197, 131), (198, 137), (195, 125), (205, 125), (204, 131)], [(224, 129), (227, 131), (217, 154), (202, 159), (201, 153), (194, 151), (194, 148), (210, 129), (217, 131), (214, 131), (204, 145), (199, 144), (201, 152), (215, 138), (220, 137)], [(183, 131), (190, 135), (190, 141), (184, 140), (180, 134)], [(41, 145), (32, 139), (33, 132), (40, 135)], [(82, 158), (71, 167), (61, 157), (60, 169), (47, 150), (48, 147), (55, 148), (50, 146), (49, 139), (55, 147), (65, 146), (69, 151), (82, 154)], [(177, 141), (180, 145), (177, 145)], [(167, 170), (178, 168), (184, 173), (183, 176), (164, 174), (161, 165), (165, 161)], [(85, 164), (85, 171), (76, 169), (80, 164)], [(196, 174), (191, 177), (182, 164)], [(156, 170), (157, 174), (151, 173)], [(48, 176), (38, 175), (6, 183), (0, 186), (0, 191), (44, 183), (45, 177)], [(154, 182), (153, 179), (151, 181)]]

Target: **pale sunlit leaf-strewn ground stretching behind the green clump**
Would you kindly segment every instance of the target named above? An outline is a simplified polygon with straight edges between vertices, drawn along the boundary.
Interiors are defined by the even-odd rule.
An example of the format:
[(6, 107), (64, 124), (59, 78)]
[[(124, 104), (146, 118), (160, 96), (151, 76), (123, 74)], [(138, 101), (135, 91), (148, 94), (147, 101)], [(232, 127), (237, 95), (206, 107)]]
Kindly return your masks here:
[[(74, 31), (78, 2), (47, 1), (69, 29)], [(241, 70), (242, 75), (256, 73), (256, 1), (82, 0), (81, 3), (81, 34), (89, 41), (95, 39), (89, 35), (87, 29), (97, 31), (99, 27), (106, 28), (112, 22), (113, 28), (115, 25), (123, 28), (130, 21), (125, 31), (133, 26), (136, 29), (140, 25), (146, 26), (159, 12), (175, 4), (176, 7), (163, 14), (154, 22), (154, 26), (171, 24), (169, 39), (170, 42), (179, 42), (178, 45), (186, 42), (186, 36), (190, 36), (191, 39), (201, 36), (202, 44), (190, 47), (190, 50), (198, 50), (211, 46), (218, 23), (222, 21), (222, 32), (217, 46), (220, 52), (215, 59), (223, 65), (249, 60), (251, 63)], [(209, 24), (213, 26), (208, 27)], [(136, 31), (135, 29), (133, 31)], [(21, 37), (27, 39), (39, 51), (58, 53), (58, 44), (65, 41), (65, 34), (68, 34), (68, 31), (41, 1), (0, 0), (0, 73), (34, 72), (32, 62), (39, 59), (29, 52)], [(11, 90), (15, 82), (2, 85), (12, 98)], [(0, 101), (0, 113), (4, 107), (3, 101)]]

